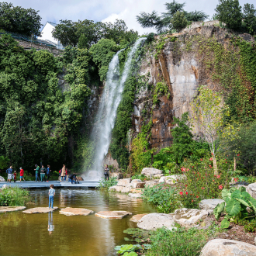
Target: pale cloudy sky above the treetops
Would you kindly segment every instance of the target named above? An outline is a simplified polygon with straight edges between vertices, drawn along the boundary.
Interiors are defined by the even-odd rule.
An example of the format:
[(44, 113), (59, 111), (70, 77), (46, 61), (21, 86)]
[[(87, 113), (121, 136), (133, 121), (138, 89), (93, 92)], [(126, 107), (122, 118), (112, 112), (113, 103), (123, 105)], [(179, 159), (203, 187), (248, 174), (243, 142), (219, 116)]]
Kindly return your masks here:
[[(164, 12), (164, 3), (172, 0), (3, 0), (12, 2), (23, 8), (32, 8), (42, 17), (42, 23), (47, 21), (58, 23), (60, 19), (92, 19), (94, 21), (114, 22), (116, 19), (123, 19), (130, 29), (139, 31), (140, 34), (149, 32), (142, 29), (136, 21), (136, 16), (140, 12), (158, 13)], [(183, 1), (178, 1), (183, 2)], [(186, 11), (203, 11), (209, 17), (213, 16), (218, 0), (187, 0), (185, 1)], [(255, 4), (255, 0), (240, 0), (240, 5), (244, 3)]]

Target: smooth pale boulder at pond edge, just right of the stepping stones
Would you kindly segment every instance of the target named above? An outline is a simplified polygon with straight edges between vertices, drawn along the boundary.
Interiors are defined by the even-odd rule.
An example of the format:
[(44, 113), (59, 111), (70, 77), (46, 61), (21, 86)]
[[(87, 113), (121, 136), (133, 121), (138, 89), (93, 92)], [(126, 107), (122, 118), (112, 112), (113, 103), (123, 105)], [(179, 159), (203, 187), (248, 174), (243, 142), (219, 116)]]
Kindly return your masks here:
[(174, 218), (165, 213), (149, 213), (143, 216), (137, 223), (137, 227), (144, 230), (156, 230), (166, 227), (168, 230), (176, 229)]

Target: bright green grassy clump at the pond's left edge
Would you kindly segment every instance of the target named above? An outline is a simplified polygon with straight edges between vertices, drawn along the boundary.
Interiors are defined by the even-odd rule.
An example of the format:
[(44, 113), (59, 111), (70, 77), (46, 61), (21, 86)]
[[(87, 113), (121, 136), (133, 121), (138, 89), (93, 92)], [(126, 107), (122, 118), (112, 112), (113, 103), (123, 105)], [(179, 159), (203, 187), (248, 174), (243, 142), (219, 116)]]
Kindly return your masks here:
[(9, 188), (0, 192), (0, 206), (25, 206), (32, 198), (27, 189)]

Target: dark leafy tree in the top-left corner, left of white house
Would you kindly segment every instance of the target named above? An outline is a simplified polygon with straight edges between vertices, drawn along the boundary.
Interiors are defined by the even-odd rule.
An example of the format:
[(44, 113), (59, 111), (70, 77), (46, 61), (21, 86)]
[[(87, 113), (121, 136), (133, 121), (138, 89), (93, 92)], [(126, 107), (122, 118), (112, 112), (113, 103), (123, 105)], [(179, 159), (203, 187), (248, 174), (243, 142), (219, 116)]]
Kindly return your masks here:
[(40, 36), (41, 17), (39, 11), (23, 9), (12, 3), (0, 2), (0, 28), (25, 36)]

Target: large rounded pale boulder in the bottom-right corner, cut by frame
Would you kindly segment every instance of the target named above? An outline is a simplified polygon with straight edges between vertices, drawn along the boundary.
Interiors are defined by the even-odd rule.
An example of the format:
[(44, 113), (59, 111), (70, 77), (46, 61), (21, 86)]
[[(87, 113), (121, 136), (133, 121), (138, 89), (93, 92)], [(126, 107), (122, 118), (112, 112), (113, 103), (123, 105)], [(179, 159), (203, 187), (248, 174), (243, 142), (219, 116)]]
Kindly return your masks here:
[(256, 246), (228, 239), (210, 240), (201, 251), (200, 256), (255, 256)]

